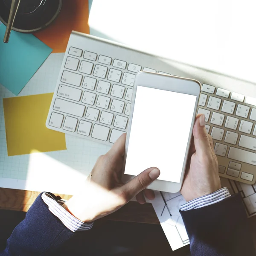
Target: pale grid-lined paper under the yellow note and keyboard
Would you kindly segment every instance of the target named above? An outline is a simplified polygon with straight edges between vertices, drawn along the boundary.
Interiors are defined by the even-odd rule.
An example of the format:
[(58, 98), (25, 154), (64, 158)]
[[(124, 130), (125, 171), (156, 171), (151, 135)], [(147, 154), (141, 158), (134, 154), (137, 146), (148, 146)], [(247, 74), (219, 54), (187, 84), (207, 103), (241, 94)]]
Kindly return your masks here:
[[(53, 92), (63, 56), (49, 55), (19, 96)], [(3, 98), (14, 96), (0, 85), (0, 187), (73, 194), (109, 147), (66, 135), (67, 150), (8, 157)]]

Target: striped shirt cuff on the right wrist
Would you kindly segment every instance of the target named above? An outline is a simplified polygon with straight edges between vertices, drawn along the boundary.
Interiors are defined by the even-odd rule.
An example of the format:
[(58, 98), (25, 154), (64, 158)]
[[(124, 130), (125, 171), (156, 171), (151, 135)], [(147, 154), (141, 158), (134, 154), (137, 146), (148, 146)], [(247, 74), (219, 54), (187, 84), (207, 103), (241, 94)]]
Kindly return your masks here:
[(192, 209), (198, 209), (211, 204), (218, 203), (225, 198), (230, 197), (230, 192), (227, 188), (219, 189), (209, 195), (201, 196), (200, 198), (193, 199), (180, 207), (181, 211), (188, 211)]

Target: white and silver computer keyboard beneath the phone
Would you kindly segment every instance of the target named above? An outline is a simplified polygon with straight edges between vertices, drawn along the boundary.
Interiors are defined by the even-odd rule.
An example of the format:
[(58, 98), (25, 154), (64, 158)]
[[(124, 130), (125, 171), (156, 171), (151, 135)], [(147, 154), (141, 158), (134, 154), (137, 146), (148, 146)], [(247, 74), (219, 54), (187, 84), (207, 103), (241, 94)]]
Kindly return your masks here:
[[(46, 126), (112, 145), (127, 131), (134, 78), (141, 70), (189, 77), (163, 58), (72, 32)], [(219, 175), (255, 183), (256, 99), (198, 80), (203, 84), (198, 113), (205, 114), (213, 137)]]

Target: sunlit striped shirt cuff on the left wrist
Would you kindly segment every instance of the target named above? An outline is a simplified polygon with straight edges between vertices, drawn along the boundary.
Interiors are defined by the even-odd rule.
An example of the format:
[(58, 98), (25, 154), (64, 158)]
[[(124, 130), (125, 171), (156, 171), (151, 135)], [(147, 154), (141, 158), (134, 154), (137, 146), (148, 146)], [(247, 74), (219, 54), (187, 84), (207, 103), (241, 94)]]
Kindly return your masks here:
[(60, 199), (56, 201), (46, 192), (42, 194), (42, 199), (44, 203), (48, 205), (49, 211), (59, 218), (59, 220), (72, 232), (90, 230), (93, 227), (93, 222), (84, 223), (64, 209), (62, 205), (66, 200)]

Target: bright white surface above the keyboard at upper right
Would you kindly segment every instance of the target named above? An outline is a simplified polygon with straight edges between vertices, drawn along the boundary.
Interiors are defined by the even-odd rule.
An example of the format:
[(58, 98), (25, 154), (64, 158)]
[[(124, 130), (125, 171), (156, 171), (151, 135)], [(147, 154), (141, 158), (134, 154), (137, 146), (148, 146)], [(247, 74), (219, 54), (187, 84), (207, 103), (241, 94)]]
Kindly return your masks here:
[(90, 34), (256, 83), (254, 0), (93, 0)]

